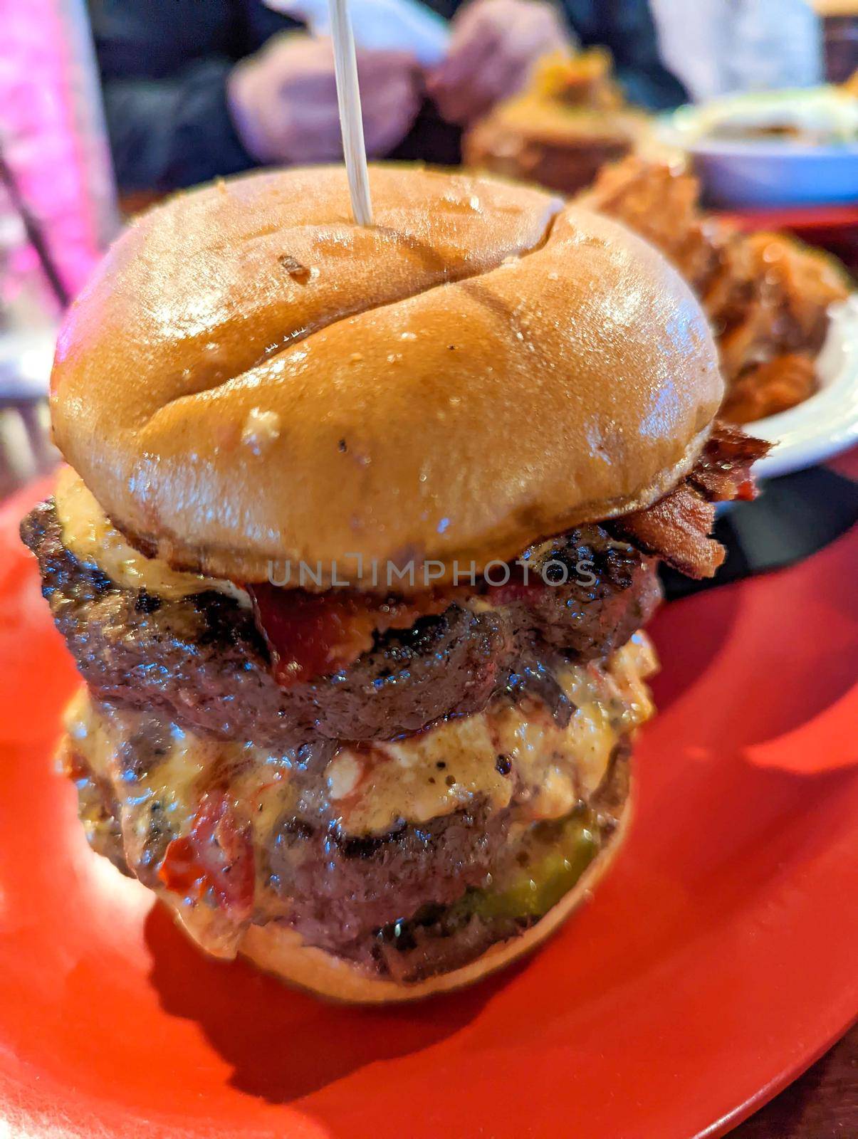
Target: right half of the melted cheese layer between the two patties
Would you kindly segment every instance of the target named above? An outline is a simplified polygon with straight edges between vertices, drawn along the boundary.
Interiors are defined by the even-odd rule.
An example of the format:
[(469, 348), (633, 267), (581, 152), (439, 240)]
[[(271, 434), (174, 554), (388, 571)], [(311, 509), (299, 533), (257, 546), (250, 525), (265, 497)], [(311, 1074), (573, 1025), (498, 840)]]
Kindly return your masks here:
[(341, 828), (383, 834), (477, 798), (493, 810), (515, 798), (531, 819), (562, 818), (597, 789), (620, 737), (653, 714), (645, 679), (654, 669), (652, 646), (637, 633), (607, 667), (570, 665), (559, 673), (575, 707), (565, 728), (534, 700), (448, 720), (400, 741), (341, 748), (326, 771)]

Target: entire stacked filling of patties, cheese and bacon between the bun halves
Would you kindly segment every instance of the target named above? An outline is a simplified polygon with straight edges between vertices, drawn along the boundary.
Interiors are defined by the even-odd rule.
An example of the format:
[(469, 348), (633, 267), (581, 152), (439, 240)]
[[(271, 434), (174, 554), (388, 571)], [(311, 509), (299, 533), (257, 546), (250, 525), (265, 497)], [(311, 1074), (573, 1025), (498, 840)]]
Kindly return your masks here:
[(411, 982), (526, 929), (621, 818), (657, 560), (713, 572), (713, 502), (765, 450), (716, 427), (670, 494), (534, 546), (530, 576), (408, 597), (178, 572), (65, 473), (22, 536), (85, 681), (64, 762), (91, 844), (221, 956), (275, 924)]

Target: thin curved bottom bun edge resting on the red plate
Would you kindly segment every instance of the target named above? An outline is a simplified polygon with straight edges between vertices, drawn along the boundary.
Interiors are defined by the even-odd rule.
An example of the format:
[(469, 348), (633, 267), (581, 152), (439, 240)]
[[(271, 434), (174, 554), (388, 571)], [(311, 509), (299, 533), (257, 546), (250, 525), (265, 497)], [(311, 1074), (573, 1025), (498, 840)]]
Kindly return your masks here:
[(343, 958), (307, 945), (293, 929), (269, 924), (251, 926), (238, 952), (264, 973), (333, 1001), (350, 1005), (384, 1005), (393, 1001), (422, 1000), (434, 993), (451, 992), (474, 984), (502, 969), (525, 953), (533, 952), (566, 920), (593, 891), (619, 851), (628, 830), (630, 797), (627, 796), (618, 825), (597, 857), (590, 862), (572, 890), (540, 920), (516, 937), (497, 942), (467, 965), (441, 973), (414, 984), (400, 984), (373, 976), (366, 969)]

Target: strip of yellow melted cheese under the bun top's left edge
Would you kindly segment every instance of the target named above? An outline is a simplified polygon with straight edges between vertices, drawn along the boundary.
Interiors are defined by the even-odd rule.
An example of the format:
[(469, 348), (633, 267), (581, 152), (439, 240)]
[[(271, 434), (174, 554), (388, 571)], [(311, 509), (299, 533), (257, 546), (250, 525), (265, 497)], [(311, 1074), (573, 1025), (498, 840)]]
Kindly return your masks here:
[(239, 604), (250, 607), (247, 593), (231, 581), (204, 577), (202, 574), (180, 573), (171, 570), (160, 558), (147, 558), (129, 546), (113, 526), (96, 498), (87, 490), (83, 480), (71, 467), (64, 467), (54, 492), (57, 517), (63, 528), (63, 544), (87, 565), (97, 566), (103, 573), (125, 589), (145, 589), (167, 600), (215, 590), (228, 593)]

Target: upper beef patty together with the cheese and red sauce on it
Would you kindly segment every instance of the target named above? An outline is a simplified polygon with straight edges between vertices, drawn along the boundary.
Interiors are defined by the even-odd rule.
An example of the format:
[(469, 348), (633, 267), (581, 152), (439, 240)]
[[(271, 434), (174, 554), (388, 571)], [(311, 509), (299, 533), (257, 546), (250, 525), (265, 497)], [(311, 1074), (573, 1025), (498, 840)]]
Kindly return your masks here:
[[(70, 485), (75, 506), (87, 503), (85, 524), (68, 507)], [(28, 516), (23, 534), (95, 697), (155, 707), (187, 728), (261, 746), (295, 747), (320, 736), (391, 739), (482, 711), (502, 693), (539, 697), (563, 719), (569, 706), (557, 667), (612, 653), (660, 598), (655, 558), (604, 527), (581, 526), (533, 551), (526, 587), (485, 584), (433, 598), (422, 616), (412, 599), (374, 600), (376, 612), (410, 609), (411, 624), (391, 628), (383, 613), (368, 647), (326, 671), (324, 659), (366, 636), (367, 606), (361, 613), (353, 591), (313, 596), (259, 584), (251, 587), (253, 605), (232, 583), (175, 574), (132, 550), (71, 475), (56, 500)], [(542, 580), (540, 564), (548, 562), (565, 567), (565, 584)], [(312, 661), (321, 671), (284, 675), (296, 647), (303, 674)]]

